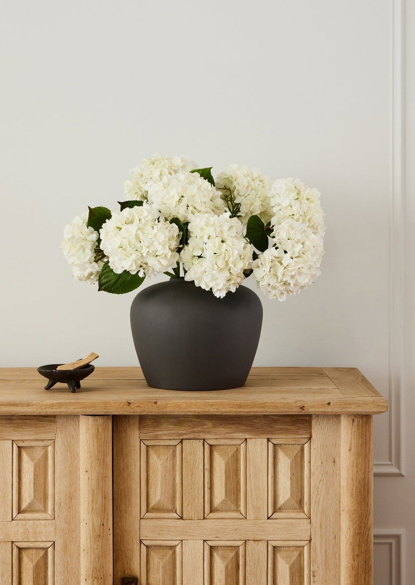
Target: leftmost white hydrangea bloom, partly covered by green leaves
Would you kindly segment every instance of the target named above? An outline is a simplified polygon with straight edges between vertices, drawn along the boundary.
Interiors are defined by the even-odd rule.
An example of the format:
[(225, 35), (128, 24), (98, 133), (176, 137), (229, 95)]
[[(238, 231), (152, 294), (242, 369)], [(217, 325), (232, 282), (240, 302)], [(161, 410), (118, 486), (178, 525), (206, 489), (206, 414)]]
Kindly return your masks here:
[(64, 229), (60, 249), (72, 269), (75, 280), (96, 283), (102, 261), (95, 262), (95, 247), (98, 232), (87, 228), (88, 212), (68, 223)]

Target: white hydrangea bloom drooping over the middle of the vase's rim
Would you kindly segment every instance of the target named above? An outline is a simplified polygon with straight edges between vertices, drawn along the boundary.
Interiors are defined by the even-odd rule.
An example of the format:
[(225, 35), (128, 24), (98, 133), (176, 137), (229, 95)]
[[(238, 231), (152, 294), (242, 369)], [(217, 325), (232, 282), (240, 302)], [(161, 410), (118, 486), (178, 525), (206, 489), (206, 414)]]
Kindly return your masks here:
[(252, 265), (253, 246), (243, 236), (244, 226), (228, 212), (198, 214), (189, 223), (189, 242), (180, 254), (185, 280), (212, 290), (215, 297), (234, 292)]

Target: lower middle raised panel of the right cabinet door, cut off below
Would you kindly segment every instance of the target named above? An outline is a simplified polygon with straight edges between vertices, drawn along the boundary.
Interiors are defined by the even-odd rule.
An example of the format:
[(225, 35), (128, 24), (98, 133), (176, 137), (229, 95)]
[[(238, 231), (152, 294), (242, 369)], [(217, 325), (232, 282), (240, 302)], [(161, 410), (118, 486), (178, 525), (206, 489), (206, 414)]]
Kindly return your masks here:
[(205, 542), (204, 585), (245, 585), (245, 542)]

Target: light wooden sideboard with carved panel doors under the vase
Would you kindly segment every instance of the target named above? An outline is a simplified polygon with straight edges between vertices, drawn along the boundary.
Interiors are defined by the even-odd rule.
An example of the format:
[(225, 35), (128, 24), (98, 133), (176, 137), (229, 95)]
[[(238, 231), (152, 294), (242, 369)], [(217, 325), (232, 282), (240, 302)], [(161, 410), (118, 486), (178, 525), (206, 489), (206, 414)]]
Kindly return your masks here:
[(371, 585), (372, 415), (352, 368), (71, 394), (0, 369), (1, 585)]

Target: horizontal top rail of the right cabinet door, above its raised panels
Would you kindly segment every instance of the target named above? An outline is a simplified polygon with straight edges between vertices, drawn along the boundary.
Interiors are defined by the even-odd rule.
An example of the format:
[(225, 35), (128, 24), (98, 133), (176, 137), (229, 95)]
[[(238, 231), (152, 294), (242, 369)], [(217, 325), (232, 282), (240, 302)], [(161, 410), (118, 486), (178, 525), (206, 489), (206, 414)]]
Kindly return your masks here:
[(245, 439), (268, 437), (310, 437), (309, 415), (269, 416), (143, 416), (141, 439)]

